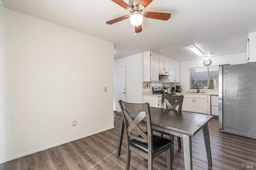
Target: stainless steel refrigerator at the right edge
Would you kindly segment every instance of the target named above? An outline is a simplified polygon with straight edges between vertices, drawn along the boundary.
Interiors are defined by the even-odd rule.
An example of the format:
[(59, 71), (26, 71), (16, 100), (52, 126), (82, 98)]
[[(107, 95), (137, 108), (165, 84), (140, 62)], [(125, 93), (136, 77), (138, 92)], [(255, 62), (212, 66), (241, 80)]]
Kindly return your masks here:
[(219, 127), (256, 139), (256, 63), (220, 66)]

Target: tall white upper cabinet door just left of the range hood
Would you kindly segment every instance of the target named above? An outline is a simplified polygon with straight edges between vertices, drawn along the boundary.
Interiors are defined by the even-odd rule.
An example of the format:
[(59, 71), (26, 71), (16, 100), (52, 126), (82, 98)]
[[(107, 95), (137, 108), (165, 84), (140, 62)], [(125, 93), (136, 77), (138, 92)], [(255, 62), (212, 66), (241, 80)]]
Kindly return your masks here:
[(159, 56), (151, 53), (151, 81), (158, 82), (159, 81)]

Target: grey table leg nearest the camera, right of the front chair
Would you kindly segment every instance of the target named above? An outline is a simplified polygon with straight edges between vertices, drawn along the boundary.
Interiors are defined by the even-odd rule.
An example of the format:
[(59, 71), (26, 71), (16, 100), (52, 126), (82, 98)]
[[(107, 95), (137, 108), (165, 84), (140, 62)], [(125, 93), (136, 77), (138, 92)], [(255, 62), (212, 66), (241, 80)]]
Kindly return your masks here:
[(182, 135), (185, 170), (192, 170), (192, 141), (191, 136)]

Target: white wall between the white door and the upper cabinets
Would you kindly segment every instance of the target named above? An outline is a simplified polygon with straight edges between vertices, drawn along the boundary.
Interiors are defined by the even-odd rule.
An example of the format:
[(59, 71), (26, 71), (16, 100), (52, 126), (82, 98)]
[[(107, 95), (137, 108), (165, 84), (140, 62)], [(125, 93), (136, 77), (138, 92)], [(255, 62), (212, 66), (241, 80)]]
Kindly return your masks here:
[(114, 67), (126, 65), (126, 102), (142, 103), (142, 53), (114, 60)]

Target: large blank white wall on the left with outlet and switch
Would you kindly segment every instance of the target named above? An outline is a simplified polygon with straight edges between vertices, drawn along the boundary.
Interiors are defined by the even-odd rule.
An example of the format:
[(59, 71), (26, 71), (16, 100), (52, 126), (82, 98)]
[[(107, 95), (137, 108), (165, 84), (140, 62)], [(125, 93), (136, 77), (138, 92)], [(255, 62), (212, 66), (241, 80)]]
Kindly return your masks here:
[(113, 43), (4, 12), (0, 163), (113, 128)]

